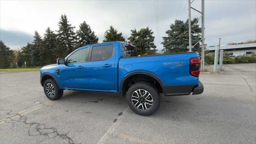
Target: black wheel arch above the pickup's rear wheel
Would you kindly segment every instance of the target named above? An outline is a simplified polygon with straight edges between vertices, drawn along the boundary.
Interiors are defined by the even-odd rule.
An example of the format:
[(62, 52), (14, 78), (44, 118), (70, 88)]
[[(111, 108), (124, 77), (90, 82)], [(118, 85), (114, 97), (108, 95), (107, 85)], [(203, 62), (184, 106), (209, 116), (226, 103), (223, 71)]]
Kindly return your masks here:
[(126, 74), (126, 76), (124, 76), (124, 78), (121, 81), (120, 84), (120, 93), (125, 94), (126, 93), (126, 84), (128, 83), (128, 80), (134, 76), (148, 76), (150, 78), (152, 78), (152, 80), (155, 80), (159, 86), (162, 88), (162, 86), (164, 86), (164, 83), (162, 82), (162, 80), (156, 76), (155, 74), (152, 74), (151, 72), (145, 72), (145, 71), (136, 71), (136, 72), (131, 72), (129, 74)]

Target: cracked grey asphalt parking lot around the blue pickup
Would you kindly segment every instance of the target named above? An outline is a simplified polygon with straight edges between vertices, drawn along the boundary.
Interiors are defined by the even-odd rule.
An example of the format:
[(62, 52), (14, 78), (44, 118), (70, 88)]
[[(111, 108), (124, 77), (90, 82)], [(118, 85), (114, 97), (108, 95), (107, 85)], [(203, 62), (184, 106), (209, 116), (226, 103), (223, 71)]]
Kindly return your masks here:
[(39, 72), (1, 72), (0, 143), (256, 143), (256, 64), (224, 67), (200, 74), (203, 94), (161, 96), (152, 116), (121, 94), (64, 90), (50, 101)]

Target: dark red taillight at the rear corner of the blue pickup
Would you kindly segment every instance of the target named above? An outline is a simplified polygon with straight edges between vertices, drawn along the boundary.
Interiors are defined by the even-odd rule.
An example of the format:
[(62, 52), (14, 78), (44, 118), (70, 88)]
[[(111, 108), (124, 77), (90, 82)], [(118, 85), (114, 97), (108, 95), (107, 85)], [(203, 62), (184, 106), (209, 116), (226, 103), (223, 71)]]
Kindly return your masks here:
[(201, 61), (199, 57), (190, 58), (189, 60), (189, 73), (191, 76), (198, 77), (200, 74)]

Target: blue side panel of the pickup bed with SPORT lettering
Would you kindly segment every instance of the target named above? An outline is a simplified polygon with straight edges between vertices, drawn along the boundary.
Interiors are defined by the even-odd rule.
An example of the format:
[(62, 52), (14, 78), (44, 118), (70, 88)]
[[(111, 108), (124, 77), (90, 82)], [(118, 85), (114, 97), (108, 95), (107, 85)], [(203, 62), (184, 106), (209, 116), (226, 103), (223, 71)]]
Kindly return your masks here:
[(197, 52), (120, 58), (118, 84), (129, 73), (146, 71), (158, 76), (164, 86), (198, 85), (198, 77), (189, 74), (189, 60), (194, 57)]

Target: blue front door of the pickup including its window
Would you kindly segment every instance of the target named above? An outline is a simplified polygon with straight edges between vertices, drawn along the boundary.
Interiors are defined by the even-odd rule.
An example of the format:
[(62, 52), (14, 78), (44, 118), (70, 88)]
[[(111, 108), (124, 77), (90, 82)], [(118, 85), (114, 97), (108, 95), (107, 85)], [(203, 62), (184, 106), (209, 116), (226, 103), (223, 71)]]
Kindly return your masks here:
[(60, 67), (60, 77), (66, 88), (88, 89), (86, 75), (87, 50), (82, 48), (67, 58), (67, 64)]

